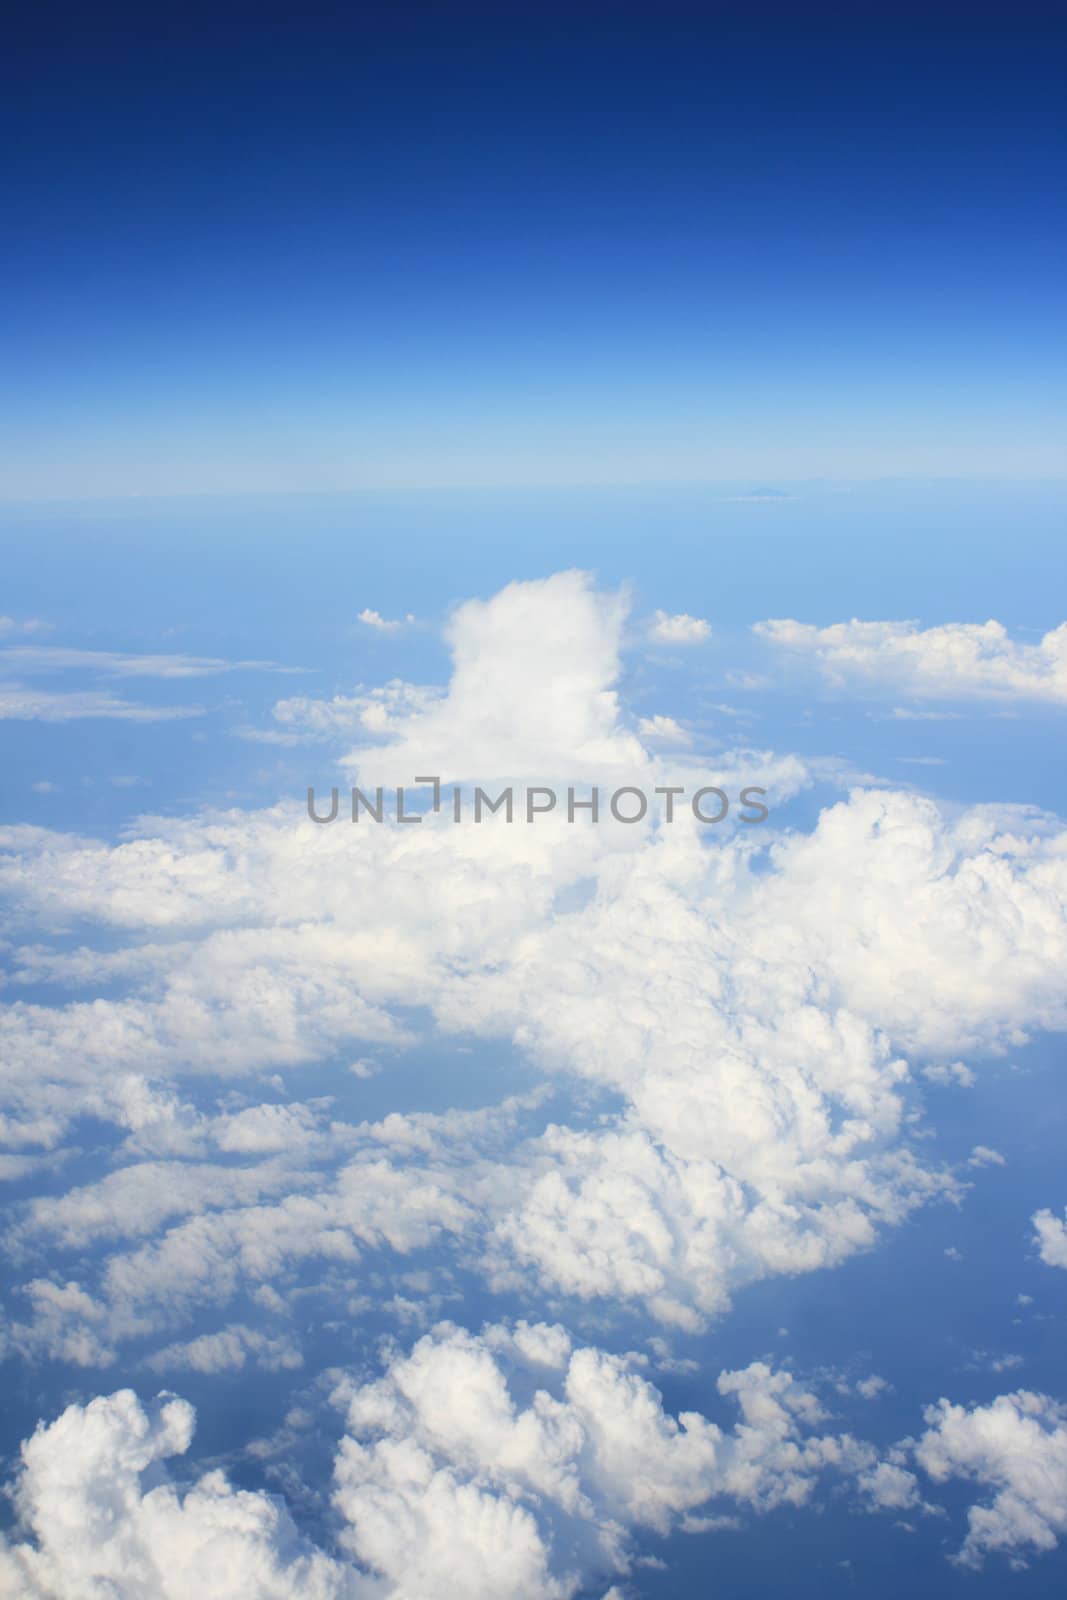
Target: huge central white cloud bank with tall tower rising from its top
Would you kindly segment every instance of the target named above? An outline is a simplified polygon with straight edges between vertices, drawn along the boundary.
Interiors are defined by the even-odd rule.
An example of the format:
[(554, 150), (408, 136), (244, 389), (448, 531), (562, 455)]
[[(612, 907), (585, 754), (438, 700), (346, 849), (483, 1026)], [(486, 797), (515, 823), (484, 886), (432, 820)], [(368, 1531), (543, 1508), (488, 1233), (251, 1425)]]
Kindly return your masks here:
[[(585, 752), (577, 770), (593, 779), (629, 754), (665, 776), (611, 688), (622, 616), (579, 573), (461, 606), (446, 694), (414, 709), (376, 701), (381, 749), (414, 760), (434, 739), (462, 749), (462, 734), (499, 771), (522, 762), (531, 731), (571, 774)], [(769, 763), (768, 782), (797, 781)], [(262, 1283), (280, 1261), (448, 1235), (477, 1238), (501, 1286), (627, 1301), (696, 1328), (741, 1285), (830, 1267), (952, 1192), (910, 1139), (901, 1053), (953, 1062), (1065, 1018), (1064, 835), (915, 795), (857, 790), (769, 850), (739, 829), (709, 850), (691, 818), (322, 829), (299, 806), (154, 819), (115, 846), (43, 829), (0, 843), (16, 918), (77, 917), (130, 938), (16, 952), (16, 981), (112, 994), (3, 1010), (5, 1142), (54, 1144), (83, 1114), (123, 1130), (131, 1162), (264, 1163), (262, 1192), (208, 1176), (184, 1216), (149, 1197), (154, 1237), (98, 1259), (91, 1283), (72, 1264), (123, 1325), (146, 1301), (184, 1307)], [(488, 1122), (458, 1162), (443, 1123), (418, 1125), (421, 1142), (405, 1147), (384, 1126), (326, 1128), (299, 1101), (205, 1115), (176, 1086), (402, 1048), (413, 1006), (446, 1034), (514, 1040), (531, 1072), (619, 1109), (533, 1134)], [(477, 1146), (507, 1126), (510, 1146)], [(354, 1162), (357, 1138), (366, 1154)], [(443, 1234), (362, 1234), (355, 1195), (371, 1184), (398, 1216), (424, 1186)], [(34, 1218), (77, 1227), (59, 1211)]]

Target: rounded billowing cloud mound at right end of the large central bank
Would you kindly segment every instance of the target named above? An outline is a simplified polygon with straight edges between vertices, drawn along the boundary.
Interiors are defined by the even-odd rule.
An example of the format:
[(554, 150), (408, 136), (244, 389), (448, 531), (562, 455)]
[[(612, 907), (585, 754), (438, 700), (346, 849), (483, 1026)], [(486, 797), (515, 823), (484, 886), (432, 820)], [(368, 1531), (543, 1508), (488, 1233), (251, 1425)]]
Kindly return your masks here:
[(989, 1051), (1067, 1022), (1067, 830), (861, 790), (774, 864), (765, 955), (811, 963), (830, 1000), (904, 1050)]

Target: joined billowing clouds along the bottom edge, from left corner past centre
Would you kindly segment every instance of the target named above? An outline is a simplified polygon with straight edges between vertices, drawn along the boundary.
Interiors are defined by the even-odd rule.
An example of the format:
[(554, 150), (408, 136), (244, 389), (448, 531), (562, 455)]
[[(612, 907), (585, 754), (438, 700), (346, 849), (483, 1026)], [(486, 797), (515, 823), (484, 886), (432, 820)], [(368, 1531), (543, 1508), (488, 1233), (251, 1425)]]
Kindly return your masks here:
[(0, 1595), (566, 1600), (630, 1570), (627, 1530), (697, 1531), (689, 1514), (709, 1502), (798, 1506), (827, 1470), (875, 1464), (869, 1445), (816, 1432), (822, 1408), (789, 1373), (753, 1363), (717, 1387), (733, 1427), (672, 1416), (630, 1358), (573, 1349), (558, 1326), (443, 1323), (379, 1378), (334, 1387), (347, 1562), (301, 1546), (282, 1502), (219, 1470), (173, 1488), (160, 1469), (189, 1450), (192, 1406), (120, 1390), (24, 1443)]

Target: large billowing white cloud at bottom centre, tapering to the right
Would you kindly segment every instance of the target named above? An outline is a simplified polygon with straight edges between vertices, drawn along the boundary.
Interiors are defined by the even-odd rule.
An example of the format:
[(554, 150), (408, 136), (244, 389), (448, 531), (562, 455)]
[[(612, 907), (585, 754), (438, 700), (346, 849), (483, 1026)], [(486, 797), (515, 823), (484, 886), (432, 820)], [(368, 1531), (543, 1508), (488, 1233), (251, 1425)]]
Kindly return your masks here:
[[(689, 1514), (709, 1501), (801, 1504), (824, 1470), (875, 1461), (848, 1435), (808, 1437), (816, 1397), (761, 1363), (718, 1381), (741, 1410), (729, 1432), (696, 1411), (670, 1416), (629, 1358), (593, 1347), (569, 1352), (552, 1382), (541, 1365), (523, 1405), (501, 1354), (537, 1362), (528, 1334), (440, 1325), (394, 1352), (382, 1378), (338, 1387), (346, 1542), (403, 1594), (422, 1595), (435, 1562), (470, 1600), (569, 1594), (590, 1570), (629, 1570), (627, 1528), (696, 1528)], [(494, 1573), (498, 1539), (510, 1547)]]

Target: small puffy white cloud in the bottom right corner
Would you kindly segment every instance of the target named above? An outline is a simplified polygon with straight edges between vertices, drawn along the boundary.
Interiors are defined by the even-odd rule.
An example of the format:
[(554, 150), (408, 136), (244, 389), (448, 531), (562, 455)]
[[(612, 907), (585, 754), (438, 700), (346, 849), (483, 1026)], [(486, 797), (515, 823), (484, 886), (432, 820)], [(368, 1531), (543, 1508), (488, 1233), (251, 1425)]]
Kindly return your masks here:
[(968, 1512), (968, 1534), (957, 1555), (981, 1566), (998, 1550), (1022, 1562), (1051, 1550), (1067, 1533), (1067, 1413), (1048, 1395), (1019, 1389), (990, 1405), (939, 1400), (926, 1410), (928, 1429), (915, 1459), (936, 1482), (969, 1478), (990, 1498)]

